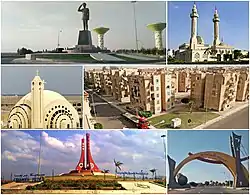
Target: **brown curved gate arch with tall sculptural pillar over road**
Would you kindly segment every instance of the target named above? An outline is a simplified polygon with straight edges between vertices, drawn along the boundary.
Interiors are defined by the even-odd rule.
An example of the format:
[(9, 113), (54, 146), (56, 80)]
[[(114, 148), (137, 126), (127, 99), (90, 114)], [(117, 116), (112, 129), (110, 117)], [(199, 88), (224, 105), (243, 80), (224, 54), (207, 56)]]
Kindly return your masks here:
[(198, 152), (196, 154), (189, 153), (189, 156), (181, 161), (175, 168), (176, 162), (168, 156), (169, 163), (169, 188), (188, 187), (187, 185), (181, 186), (176, 181), (176, 176), (179, 171), (187, 163), (193, 160), (200, 160), (207, 163), (222, 164), (232, 174), (234, 178), (234, 187), (248, 187), (249, 186), (249, 172), (245, 166), (241, 163), (244, 160), (248, 160), (249, 157), (240, 158), (240, 142), (241, 136), (233, 133), (230, 136), (232, 156), (223, 152), (217, 151), (205, 151)]

